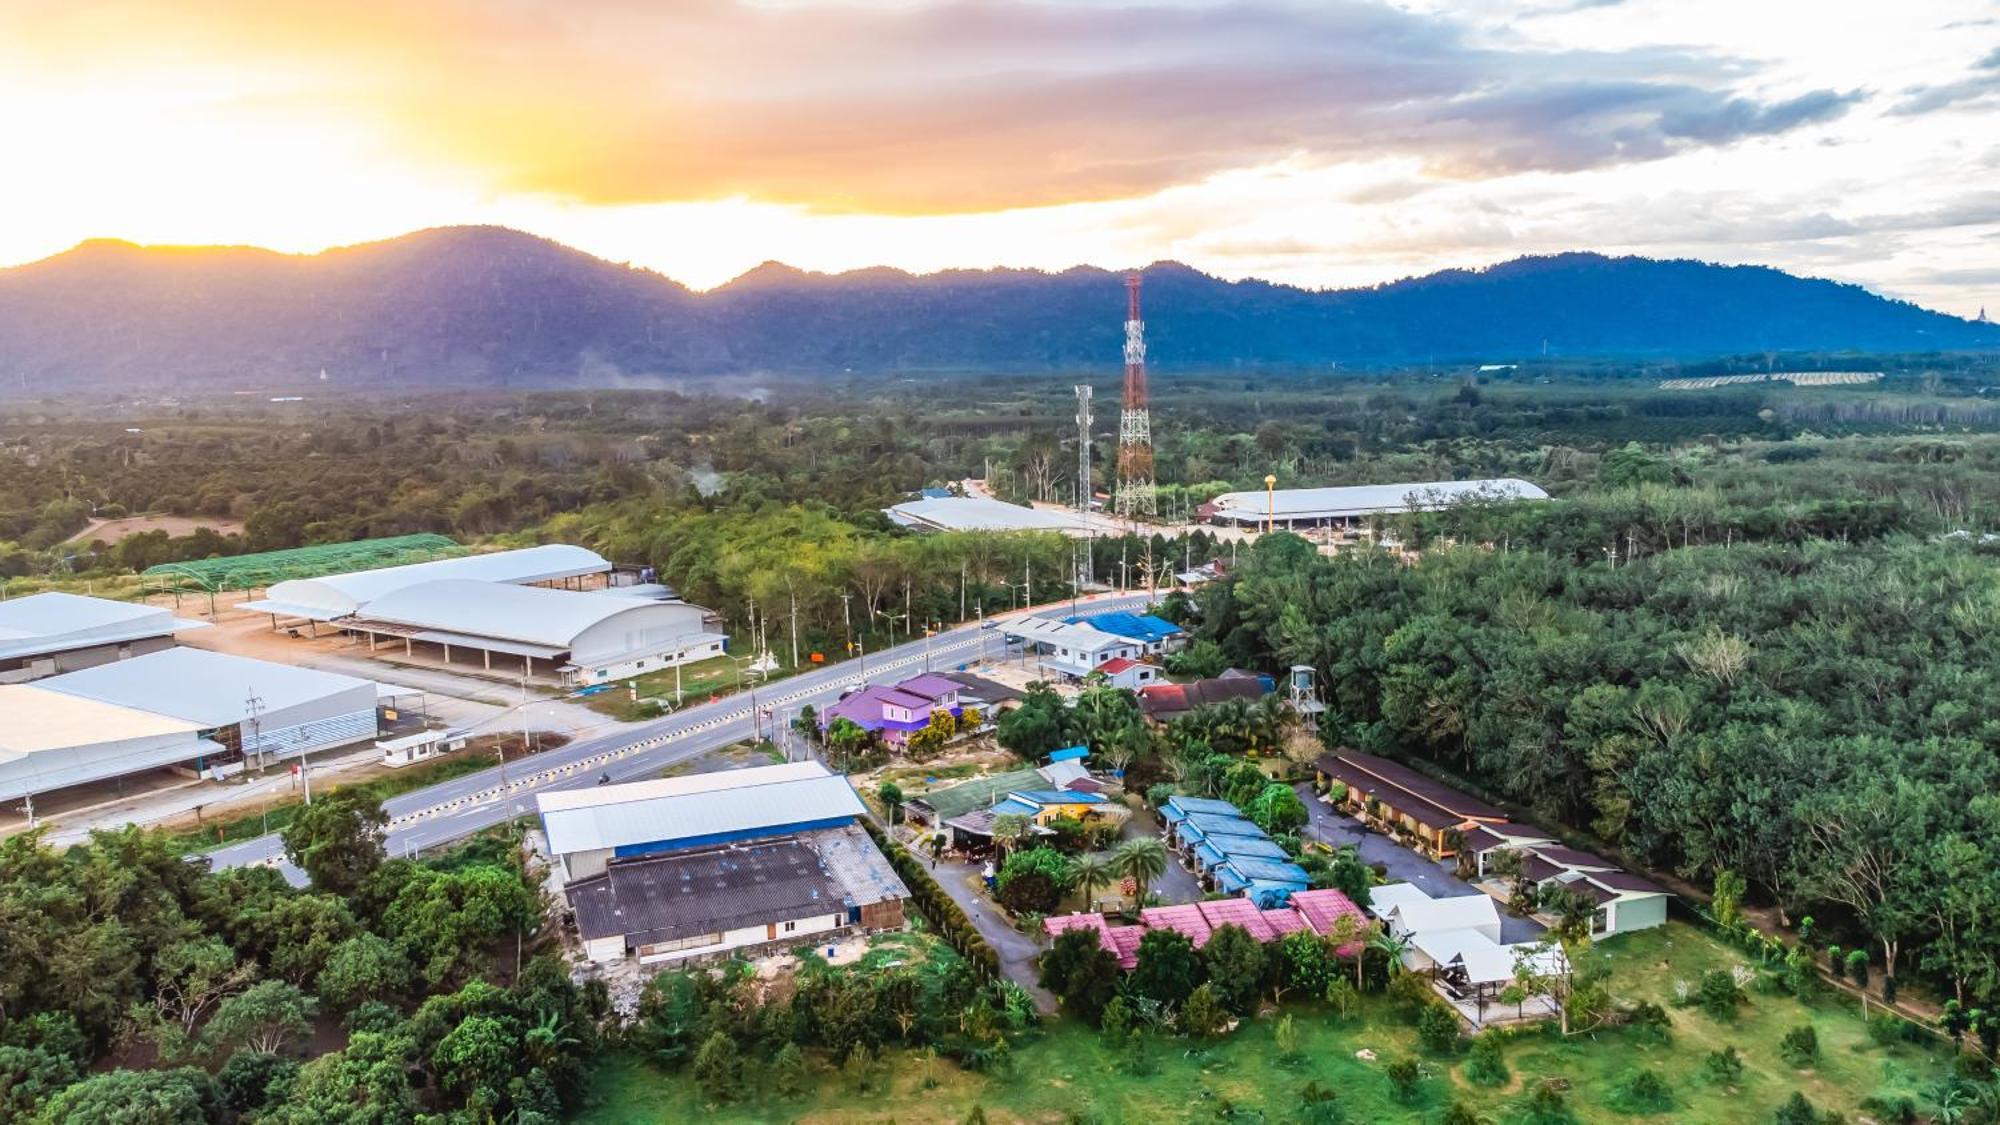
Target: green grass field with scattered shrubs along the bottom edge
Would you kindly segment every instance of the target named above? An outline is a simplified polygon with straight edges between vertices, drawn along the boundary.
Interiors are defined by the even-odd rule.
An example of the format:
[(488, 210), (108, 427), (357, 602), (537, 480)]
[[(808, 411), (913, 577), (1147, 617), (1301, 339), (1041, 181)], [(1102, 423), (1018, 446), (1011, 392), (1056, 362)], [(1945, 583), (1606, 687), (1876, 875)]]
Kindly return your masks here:
[[(1606, 945), (1614, 955), (1616, 991), (1626, 999), (1670, 1003), (1674, 981), (1694, 981), (1706, 969), (1740, 959), (1704, 933), (1674, 923)], [(822, 1071), (816, 1091), (796, 1101), (752, 1095), (750, 1101), (710, 1107), (684, 1075), (666, 1075), (632, 1055), (614, 1055), (596, 1075), (594, 1107), (580, 1121), (638, 1125), (666, 1121), (964, 1121), (974, 1107), (988, 1121), (1292, 1121), (1306, 1083), (1338, 1093), (1350, 1123), (1434, 1121), (1456, 1097), (1496, 1125), (1528, 1121), (1524, 1091), (1540, 1079), (1568, 1083), (1568, 1109), (1580, 1121), (1760, 1123), (1802, 1091), (1820, 1109), (1850, 1121), (1864, 1119), (1870, 1097), (1916, 1097), (1948, 1069), (1942, 1049), (1896, 1043), (1876, 1045), (1860, 1011), (1832, 999), (1802, 1005), (1784, 995), (1752, 999), (1736, 1021), (1718, 1023), (1698, 1009), (1674, 1009), (1668, 1043), (1644, 1043), (1616, 1033), (1562, 1039), (1552, 1031), (1524, 1031), (1508, 1043), (1510, 1083), (1482, 1089), (1464, 1081), (1462, 1057), (1426, 1057), (1420, 1097), (1402, 1103), (1382, 1075), (1386, 1061), (1416, 1057), (1416, 1033), (1386, 1003), (1370, 997), (1354, 1017), (1332, 1017), (1316, 1005), (1288, 1005), (1302, 1037), (1302, 1057), (1280, 1059), (1274, 1017), (1246, 1023), (1214, 1043), (1158, 1039), (1134, 1061), (1108, 1047), (1094, 1031), (1054, 1023), (1022, 1043), (1000, 1075), (974, 1075), (946, 1061), (926, 1063), (912, 1053), (888, 1053), (872, 1091), (856, 1091)], [(1820, 1035), (1820, 1063), (1800, 1071), (1778, 1053), (1780, 1037), (1812, 1023)], [(1744, 1059), (1742, 1083), (1712, 1085), (1702, 1057), (1734, 1045)], [(1360, 1059), (1356, 1051), (1374, 1051)], [(1652, 1115), (1620, 1113), (1612, 1091), (1638, 1069), (1652, 1069), (1674, 1095), (1672, 1109)], [(752, 1077), (748, 1087), (756, 1089)]]

